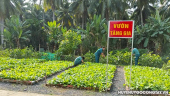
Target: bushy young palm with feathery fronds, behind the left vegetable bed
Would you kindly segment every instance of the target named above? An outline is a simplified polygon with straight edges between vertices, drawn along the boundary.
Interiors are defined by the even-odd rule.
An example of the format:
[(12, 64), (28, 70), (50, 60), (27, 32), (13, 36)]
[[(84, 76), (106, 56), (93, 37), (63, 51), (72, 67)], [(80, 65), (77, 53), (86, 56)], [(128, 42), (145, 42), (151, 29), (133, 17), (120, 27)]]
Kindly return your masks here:
[[(13, 47), (15, 44), (20, 48), (20, 41), (29, 41), (30, 31), (26, 30), (30, 25), (27, 21), (20, 21), (17, 16), (11, 16), (5, 20), (4, 38), (7, 45)], [(15, 42), (14, 42), (15, 41)], [(14, 44), (13, 44), (14, 43)]]

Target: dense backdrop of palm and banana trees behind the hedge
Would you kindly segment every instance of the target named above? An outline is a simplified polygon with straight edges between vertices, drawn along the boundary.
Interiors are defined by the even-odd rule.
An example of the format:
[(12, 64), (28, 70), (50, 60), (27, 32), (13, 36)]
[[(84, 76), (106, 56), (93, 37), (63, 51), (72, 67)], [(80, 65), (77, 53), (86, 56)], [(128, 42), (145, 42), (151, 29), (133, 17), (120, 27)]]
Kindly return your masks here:
[[(54, 52), (61, 49), (62, 40), (68, 39), (63, 37), (62, 32), (66, 28), (67, 31), (72, 30), (70, 35), (74, 33), (81, 35), (82, 43), (76, 45), (74, 50), (80, 50), (81, 54), (94, 52), (97, 48), (106, 46), (109, 20), (135, 20), (134, 47), (148, 48), (163, 54), (169, 46), (169, 0), (31, 0), (30, 2), (1, 0), (0, 2), (1, 44), (4, 31), (6, 48), (33, 46), (36, 50), (39, 48), (47, 50), (49, 46), (49, 50)], [(15, 21), (14, 17), (19, 21)], [(14, 28), (17, 25), (22, 31), (18, 31), (19, 27)], [(22, 35), (16, 35), (17, 32)], [(127, 39), (111, 39), (110, 42), (111, 50), (130, 45)]]

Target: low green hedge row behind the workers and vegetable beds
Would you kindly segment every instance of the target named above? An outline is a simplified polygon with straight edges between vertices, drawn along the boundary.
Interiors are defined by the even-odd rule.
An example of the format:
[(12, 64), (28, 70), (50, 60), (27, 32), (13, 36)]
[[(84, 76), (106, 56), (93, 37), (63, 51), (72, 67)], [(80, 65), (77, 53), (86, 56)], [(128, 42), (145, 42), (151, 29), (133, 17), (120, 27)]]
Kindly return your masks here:
[[(109, 64), (114, 65), (129, 65), (131, 60), (131, 52), (127, 51), (128, 49), (116, 50), (109, 52)], [(58, 51), (55, 54), (45, 53), (45, 52), (34, 52), (32, 49), (6, 49), (0, 52), (0, 56), (6, 56), (11, 58), (41, 58), (46, 60), (66, 60), (66, 61), (74, 61), (76, 58), (74, 55), (61, 55)], [(156, 54), (148, 53), (147, 49), (140, 49), (141, 56), (139, 58), (139, 65), (142, 66), (150, 66), (150, 67), (159, 67), (161, 68), (164, 64), (163, 59)], [(7, 55), (8, 54), (8, 55)], [(95, 62), (94, 53), (87, 52), (85, 55), (86, 62)], [(168, 59), (166, 58), (166, 61)], [(106, 63), (107, 57), (100, 57), (100, 63)], [(134, 59), (133, 59), (134, 64)]]

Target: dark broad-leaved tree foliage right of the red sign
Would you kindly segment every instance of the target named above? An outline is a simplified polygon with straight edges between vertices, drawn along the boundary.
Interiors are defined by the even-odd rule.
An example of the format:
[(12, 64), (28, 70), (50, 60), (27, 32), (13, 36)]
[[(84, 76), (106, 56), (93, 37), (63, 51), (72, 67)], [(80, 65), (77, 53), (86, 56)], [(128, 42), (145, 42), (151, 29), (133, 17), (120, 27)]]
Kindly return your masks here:
[(136, 44), (143, 44), (143, 47), (154, 44), (154, 51), (156, 51), (156, 53), (161, 53), (162, 51), (166, 53), (169, 49), (165, 49), (168, 48), (168, 46), (164, 47), (164, 45), (168, 44), (170, 40), (169, 21), (170, 18), (160, 20), (156, 17), (149, 17), (147, 23), (143, 27), (136, 27)]

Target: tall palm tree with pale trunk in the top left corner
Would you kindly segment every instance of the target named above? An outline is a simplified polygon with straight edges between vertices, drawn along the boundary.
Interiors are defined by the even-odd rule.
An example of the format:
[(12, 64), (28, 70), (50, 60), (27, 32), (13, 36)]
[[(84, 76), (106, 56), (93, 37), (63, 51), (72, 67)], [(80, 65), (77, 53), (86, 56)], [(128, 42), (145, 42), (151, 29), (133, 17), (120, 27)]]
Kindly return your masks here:
[(11, 14), (17, 14), (20, 6), (18, 0), (0, 0), (0, 6), (1, 44), (3, 44), (4, 20), (5, 18), (9, 18)]

